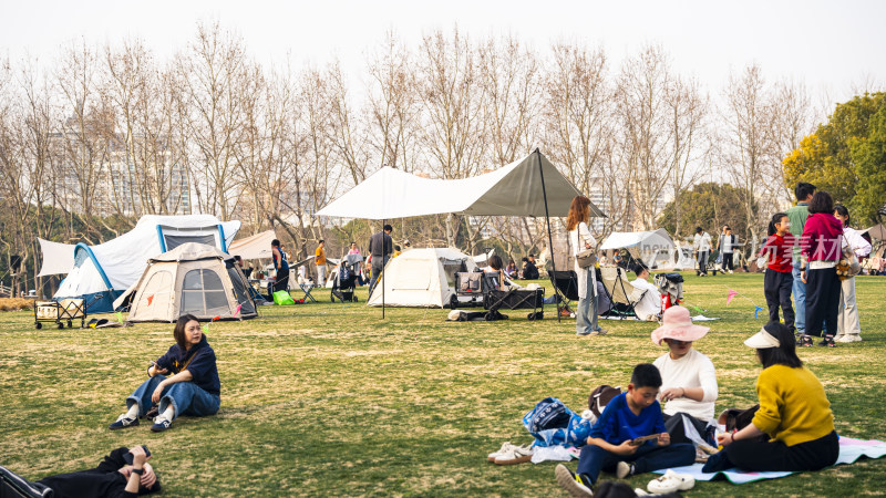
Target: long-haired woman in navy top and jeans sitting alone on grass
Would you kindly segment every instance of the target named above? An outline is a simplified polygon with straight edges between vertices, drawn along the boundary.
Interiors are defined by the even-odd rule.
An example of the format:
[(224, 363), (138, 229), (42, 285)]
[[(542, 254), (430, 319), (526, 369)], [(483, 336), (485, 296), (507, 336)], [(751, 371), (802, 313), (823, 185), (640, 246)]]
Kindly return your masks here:
[[(215, 364), (215, 351), (206, 341), (196, 317), (185, 314), (175, 323), (175, 344), (147, 369), (148, 380), (126, 398), (128, 411), (109, 428), (138, 425), (152, 404), (158, 416), (151, 430), (166, 430), (178, 415), (204, 417), (218, 412), (222, 383)], [(172, 376), (166, 377), (167, 374)]]

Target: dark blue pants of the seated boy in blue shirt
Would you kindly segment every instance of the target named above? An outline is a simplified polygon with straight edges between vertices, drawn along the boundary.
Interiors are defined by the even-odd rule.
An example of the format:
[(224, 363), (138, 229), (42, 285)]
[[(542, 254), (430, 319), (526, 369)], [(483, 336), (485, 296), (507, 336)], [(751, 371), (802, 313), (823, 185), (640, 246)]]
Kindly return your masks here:
[(633, 461), (635, 474), (682, 467), (696, 463), (696, 447), (691, 443), (676, 443), (668, 446), (647, 443), (637, 448), (632, 455), (616, 455), (597, 445), (587, 445), (581, 448), (576, 474), (587, 474), (593, 483), (597, 483), (600, 470), (615, 471), (619, 461)]

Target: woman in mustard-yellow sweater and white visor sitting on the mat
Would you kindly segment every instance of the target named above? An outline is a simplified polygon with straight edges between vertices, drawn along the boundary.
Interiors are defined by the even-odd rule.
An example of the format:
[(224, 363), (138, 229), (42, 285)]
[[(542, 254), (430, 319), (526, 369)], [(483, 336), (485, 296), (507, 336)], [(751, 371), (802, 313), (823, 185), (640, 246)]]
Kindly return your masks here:
[(744, 344), (756, 349), (763, 364), (756, 380), (760, 409), (750, 425), (720, 436), (723, 450), (708, 460), (704, 471), (800, 471), (834, 465), (839, 445), (831, 403), (822, 383), (797, 357), (794, 334), (770, 322)]

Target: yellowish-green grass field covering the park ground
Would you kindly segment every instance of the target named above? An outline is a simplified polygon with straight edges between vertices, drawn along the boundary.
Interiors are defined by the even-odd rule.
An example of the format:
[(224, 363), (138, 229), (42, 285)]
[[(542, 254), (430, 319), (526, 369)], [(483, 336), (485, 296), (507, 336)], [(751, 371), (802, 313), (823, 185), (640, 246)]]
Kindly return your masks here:
[[(742, 341), (765, 312), (754, 320), (749, 301), (727, 307), (725, 297), (732, 288), (764, 307), (762, 287), (761, 274), (687, 276), (687, 300), (722, 319), (696, 344), (718, 369), (718, 412), (755, 403), (760, 366)], [(885, 439), (886, 279), (859, 277), (857, 292), (864, 342), (800, 354), (825, 385), (837, 432)], [(605, 321), (608, 335), (577, 338), (553, 308), (543, 322), (509, 312), (505, 322), (451, 323), (445, 310), (405, 309), (382, 320), (363, 305), (365, 291), (354, 304), (316, 294), (320, 304), (213, 323), (222, 409), (161, 434), (106, 426), (172, 344), (171, 324), (38, 331), (29, 312), (0, 314), (0, 465), (37, 479), (146, 444), (165, 496), (565, 496), (554, 463), (497, 467), (486, 454), (530, 442), (521, 417), (539, 400), (580, 412), (595, 386), (625, 386), (635, 364), (664, 352), (650, 323)], [(700, 483), (689, 494), (883, 495), (885, 485), (886, 459), (863, 459), (742, 486)]]

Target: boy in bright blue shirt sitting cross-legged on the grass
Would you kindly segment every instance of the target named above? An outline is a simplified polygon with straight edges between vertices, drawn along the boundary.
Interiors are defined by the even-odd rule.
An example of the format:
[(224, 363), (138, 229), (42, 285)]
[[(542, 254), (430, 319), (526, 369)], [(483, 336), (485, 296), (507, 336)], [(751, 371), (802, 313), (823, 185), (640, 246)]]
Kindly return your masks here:
[[(612, 398), (594, 424), (588, 444), (581, 448), (573, 474), (557, 465), (557, 483), (573, 496), (593, 496), (591, 486), (600, 470), (615, 471), (619, 479), (670, 467), (692, 465), (696, 447), (671, 444), (656, 397), (661, 374), (656, 365), (633, 369), (628, 392)], [(638, 440), (639, 439), (639, 440)]]

